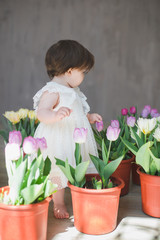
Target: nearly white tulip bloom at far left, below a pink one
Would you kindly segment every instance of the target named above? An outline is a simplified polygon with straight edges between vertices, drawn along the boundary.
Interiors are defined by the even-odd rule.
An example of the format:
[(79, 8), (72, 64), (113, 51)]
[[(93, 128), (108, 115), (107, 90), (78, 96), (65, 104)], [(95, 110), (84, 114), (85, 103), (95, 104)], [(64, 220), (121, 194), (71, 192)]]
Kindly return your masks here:
[(5, 147), (6, 160), (18, 160), (21, 156), (21, 149), (17, 143), (7, 143)]

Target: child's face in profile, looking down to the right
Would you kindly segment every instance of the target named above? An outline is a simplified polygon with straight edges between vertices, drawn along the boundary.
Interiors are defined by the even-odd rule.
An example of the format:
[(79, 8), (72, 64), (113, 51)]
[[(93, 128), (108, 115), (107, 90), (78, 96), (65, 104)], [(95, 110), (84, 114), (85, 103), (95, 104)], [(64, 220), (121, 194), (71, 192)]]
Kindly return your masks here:
[(85, 71), (83, 70), (78, 70), (78, 69), (71, 69), (69, 73), (69, 77), (67, 79), (67, 83), (69, 84), (70, 87), (78, 87), (84, 79)]

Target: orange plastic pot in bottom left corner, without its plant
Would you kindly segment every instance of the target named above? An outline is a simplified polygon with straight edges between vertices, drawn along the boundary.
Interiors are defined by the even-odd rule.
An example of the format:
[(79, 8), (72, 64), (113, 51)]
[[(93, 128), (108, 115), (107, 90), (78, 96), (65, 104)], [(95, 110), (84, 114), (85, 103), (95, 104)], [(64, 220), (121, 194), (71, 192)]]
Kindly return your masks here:
[(48, 197), (39, 203), (20, 206), (0, 203), (0, 239), (46, 240), (50, 200)]

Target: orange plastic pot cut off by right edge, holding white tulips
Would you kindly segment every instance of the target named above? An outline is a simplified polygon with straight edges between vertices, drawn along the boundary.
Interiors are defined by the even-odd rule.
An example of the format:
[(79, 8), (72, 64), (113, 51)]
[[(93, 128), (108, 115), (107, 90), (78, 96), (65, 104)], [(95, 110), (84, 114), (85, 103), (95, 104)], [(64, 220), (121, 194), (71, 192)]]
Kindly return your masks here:
[(149, 216), (160, 218), (160, 176), (137, 170), (140, 175), (142, 210)]

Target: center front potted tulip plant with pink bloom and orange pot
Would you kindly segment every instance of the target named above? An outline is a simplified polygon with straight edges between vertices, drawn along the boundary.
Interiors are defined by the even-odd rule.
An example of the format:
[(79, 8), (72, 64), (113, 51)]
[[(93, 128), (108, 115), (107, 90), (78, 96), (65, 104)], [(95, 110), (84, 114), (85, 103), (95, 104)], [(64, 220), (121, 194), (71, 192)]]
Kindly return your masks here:
[[(110, 133), (113, 134), (113, 133)], [(115, 138), (118, 132), (115, 133)], [(75, 168), (66, 161), (56, 159), (56, 164), (68, 178), (71, 189), (74, 225), (86, 234), (105, 234), (115, 229), (119, 206), (119, 197), (124, 182), (120, 178), (111, 177), (120, 164), (123, 156), (109, 162), (110, 149), (102, 142), (102, 159), (90, 154), (97, 173), (86, 174), (88, 161), (82, 161), (80, 144), (85, 142), (87, 129), (76, 128)]]

